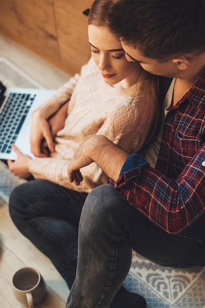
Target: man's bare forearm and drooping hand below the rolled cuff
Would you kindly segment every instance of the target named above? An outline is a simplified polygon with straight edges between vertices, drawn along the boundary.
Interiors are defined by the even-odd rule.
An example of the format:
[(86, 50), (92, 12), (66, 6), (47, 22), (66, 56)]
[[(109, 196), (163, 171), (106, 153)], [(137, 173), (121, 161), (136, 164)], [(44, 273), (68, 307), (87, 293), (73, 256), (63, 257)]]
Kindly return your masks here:
[(129, 156), (103, 135), (95, 135), (84, 141), (74, 152), (67, 169), (70, 182), (79, 185), (83, 181), (80, 168), (91, 162), (96, 164), (114, 181), (118, 179), (120, 170)]

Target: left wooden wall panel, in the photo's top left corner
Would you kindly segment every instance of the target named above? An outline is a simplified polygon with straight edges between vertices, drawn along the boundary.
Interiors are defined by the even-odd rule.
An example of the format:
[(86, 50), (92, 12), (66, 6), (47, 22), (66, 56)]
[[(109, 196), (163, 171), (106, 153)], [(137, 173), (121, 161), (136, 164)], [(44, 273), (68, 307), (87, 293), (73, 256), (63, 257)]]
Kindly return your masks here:
[(0, 0), (0, 31), (38, 54), (59, 59), (52, 0)]

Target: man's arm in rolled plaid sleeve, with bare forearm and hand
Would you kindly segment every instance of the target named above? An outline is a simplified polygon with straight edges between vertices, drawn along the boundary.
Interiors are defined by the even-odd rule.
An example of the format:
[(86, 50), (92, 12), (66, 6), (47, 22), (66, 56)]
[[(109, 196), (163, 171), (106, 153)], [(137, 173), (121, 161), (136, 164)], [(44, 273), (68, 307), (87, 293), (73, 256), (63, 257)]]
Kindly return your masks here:
[(95, 161), (124, 200), (167, 233), (178, 234), (205, 215), (204, 157), (205, 146), (173, 180), (150, 167), (140, 155), (129, 155), (106, 137), (96, 135), (76, 150), (68, 177), (79, 185), (83, 180), (80, 168)]

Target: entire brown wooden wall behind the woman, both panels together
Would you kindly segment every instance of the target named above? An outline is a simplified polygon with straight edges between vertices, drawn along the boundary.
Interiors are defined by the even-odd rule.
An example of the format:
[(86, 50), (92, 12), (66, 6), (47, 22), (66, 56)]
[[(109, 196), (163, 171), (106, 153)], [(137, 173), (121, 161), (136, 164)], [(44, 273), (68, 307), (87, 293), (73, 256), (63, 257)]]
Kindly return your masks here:
[(93, 0), (0, 0), (0, 31), (73, 75), (90, 58)]

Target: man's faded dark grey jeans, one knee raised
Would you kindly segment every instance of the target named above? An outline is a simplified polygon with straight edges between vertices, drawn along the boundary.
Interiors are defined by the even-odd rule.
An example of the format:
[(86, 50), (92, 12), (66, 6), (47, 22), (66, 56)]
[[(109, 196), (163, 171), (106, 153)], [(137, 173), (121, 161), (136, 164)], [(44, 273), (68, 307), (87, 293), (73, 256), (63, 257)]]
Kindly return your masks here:
[(128, 274), (131, 250), (171, 267), (205, 265), (201, 219), (169, 235), (127, 204), (111, 185), (92, 190), (79, 224), (77, 273), (66, 308), (108, 308)]

